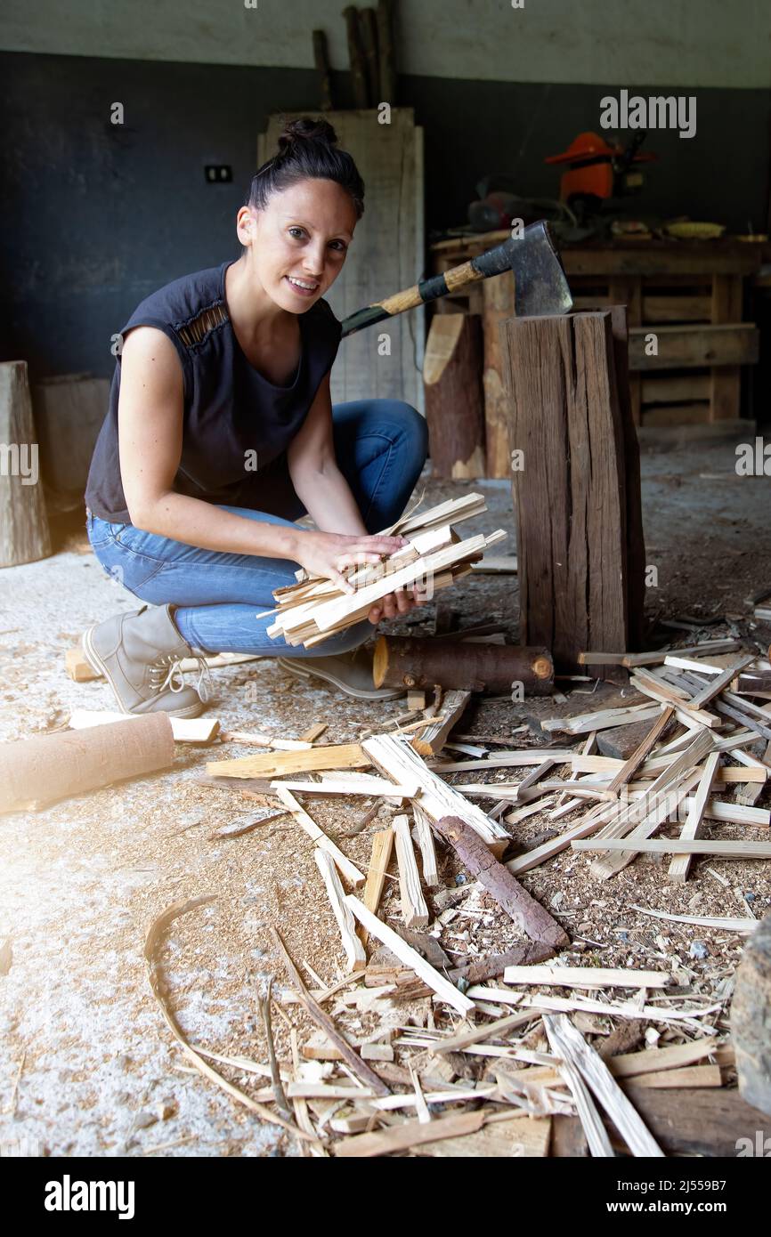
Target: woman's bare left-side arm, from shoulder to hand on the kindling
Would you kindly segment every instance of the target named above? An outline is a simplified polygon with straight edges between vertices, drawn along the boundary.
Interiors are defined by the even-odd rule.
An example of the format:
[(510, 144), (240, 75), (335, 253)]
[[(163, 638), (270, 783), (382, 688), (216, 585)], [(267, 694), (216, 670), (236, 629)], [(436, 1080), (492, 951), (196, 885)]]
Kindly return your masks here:
[[(182, 456), (184, 386), (172, 341), (155, 327), (136, 327), (121, 353), (118, 432), (120, 475), (131, 523), (202, 549), (287, 558), (334, 579), (348, 562), (377, 562), (401, 537), (327, 537), (301, 528), (246, 520), (173, 490)], [(353, 501), (353, 499), (351, 499)]]

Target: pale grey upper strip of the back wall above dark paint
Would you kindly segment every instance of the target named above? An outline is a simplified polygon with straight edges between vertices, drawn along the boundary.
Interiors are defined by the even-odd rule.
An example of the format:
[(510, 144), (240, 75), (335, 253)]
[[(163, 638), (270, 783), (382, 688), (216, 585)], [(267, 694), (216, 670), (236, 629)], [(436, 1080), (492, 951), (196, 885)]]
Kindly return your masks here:
[[(480, 82), (752, 88), (771, 84), (767, 0), (396, 0), (400, 71)], [(246, 7), (256, 5), (255, 7)], [(6, 12), (9, 51), (312, 68), (340, 0), (35, 0)]]

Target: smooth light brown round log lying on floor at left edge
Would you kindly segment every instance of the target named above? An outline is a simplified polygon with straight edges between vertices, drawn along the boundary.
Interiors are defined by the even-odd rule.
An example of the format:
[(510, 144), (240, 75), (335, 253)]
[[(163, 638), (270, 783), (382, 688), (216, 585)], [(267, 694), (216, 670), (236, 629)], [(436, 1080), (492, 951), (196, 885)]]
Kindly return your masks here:
[(41, 808), (173, 762), (166, 713), (0, 743), (0, 813)]

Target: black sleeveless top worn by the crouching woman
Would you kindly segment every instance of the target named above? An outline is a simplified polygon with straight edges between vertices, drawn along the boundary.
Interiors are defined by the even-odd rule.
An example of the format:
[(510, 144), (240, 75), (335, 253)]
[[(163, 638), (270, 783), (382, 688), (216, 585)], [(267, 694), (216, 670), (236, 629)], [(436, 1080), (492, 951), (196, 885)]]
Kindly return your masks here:
[[(230, 261), (186, 275), (141, 302), (120, 332), (156, 327), (167, 335), (184, 375), (182, 458), (177, 494), (261, 510), (260, 473), (286, 450), (335, 359), (342, 325), (325, 301), (298, 314), (301, 359), (290, 386), (275, 386), (244, 355), (228, 314)], [(85, 487), (95, 516), (130, 523), (118, 452), (120, 356)]]

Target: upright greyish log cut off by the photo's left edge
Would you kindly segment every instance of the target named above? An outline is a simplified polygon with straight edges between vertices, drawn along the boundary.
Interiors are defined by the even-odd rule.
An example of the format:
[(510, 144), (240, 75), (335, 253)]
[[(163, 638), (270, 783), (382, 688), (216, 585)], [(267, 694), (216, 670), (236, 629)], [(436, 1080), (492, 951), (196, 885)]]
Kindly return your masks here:
[(0, 567), (51, 553), (26, 361), (0, 364)]

